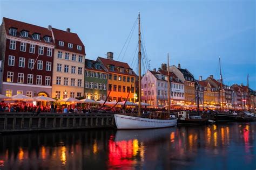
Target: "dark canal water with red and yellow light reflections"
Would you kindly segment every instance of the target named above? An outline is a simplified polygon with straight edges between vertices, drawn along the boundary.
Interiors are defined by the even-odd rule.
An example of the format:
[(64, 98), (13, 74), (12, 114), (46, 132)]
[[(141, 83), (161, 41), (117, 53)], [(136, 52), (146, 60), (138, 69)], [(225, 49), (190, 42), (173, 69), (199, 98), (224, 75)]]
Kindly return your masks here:
[(0, 169), (255, 169), (256, 122), (0, 136)]

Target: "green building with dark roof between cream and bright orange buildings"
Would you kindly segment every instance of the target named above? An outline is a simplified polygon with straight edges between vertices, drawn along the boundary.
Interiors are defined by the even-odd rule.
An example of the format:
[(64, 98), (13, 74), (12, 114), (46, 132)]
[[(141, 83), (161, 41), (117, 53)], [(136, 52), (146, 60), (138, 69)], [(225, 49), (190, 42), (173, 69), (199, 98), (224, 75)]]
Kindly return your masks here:
[(100, 62), (85, 59), (84, 98), (106, 100), (107, 72)]

